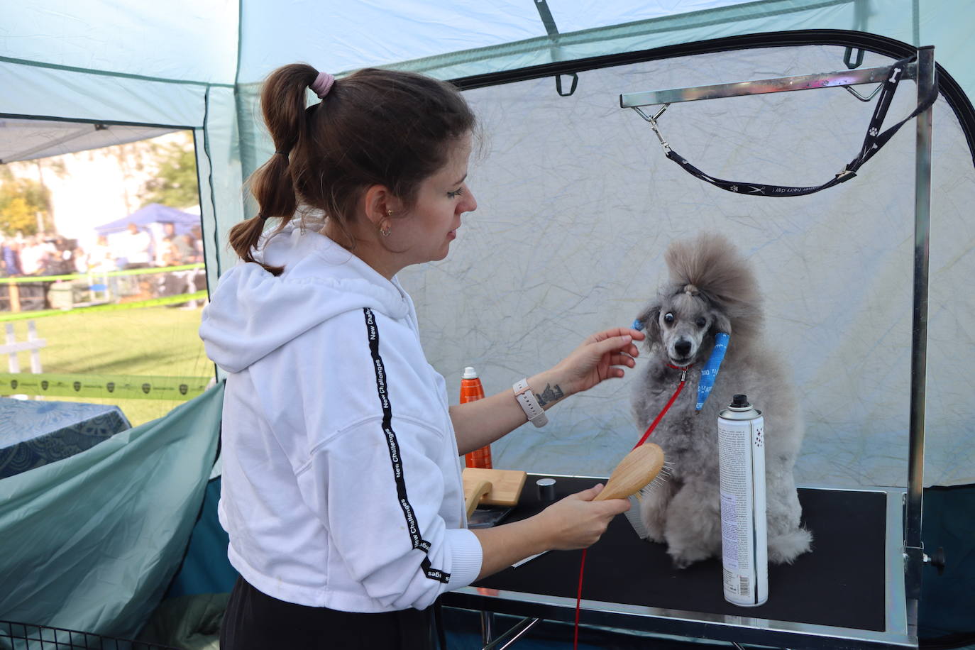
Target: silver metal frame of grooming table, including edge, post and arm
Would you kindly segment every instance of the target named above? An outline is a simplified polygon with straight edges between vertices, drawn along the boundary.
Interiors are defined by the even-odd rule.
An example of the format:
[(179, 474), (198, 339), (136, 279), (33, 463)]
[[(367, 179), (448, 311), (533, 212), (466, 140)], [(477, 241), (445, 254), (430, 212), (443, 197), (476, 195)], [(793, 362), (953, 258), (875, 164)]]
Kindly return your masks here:
[[(620, 107), (636, 110), (655, 127), (654, 120), (673, 102), (714, 99), (729, 96), (782, 93), (820, 88), (843, 87), (861, 99), (851, 87), (875, 84), (885, 79), (890, 66), (860, 70), (844, 70), (823, 74), (779, 77), (714, 86), (649, 91), (620, 95)], [(911, 63), (904, 77), (917, 81), (918, 100), (935, 87), (934, 48), (917, 50), (917, 61)], [(662, 105), (650, 117), (643, 106)], [(660, 610), (606, 602), (583, 601), (590, 621), (604, 622), (610, 627), (655, 631), (682, 636), (740, 641), (746, 643), (784, 643), (794, 647), (835, 647), (842, 639), (843, 647), (917, 647), (917, 605), (920, 597), (922, 567), (930, 561), (921, 542), (921, 509), (924, 480), (924, 399), (927, 360), (927, 301), (928, 253), (931, 218), (931, 131), (934, 106), (917, 115), (915, 163), (915, 253), (914, 253), (914, 327), (911, 348), (911, 414), (910, 451), (908, 459), (908, 488), (878, 488), (887, 493), (887, 601), (884, 632), (853, 631), (748, 617), (707, 615), (695, 612)], [(658, 137), (659, 137), (658, 133)], [(663, 139), (661, 138), (661, 142)], [(665, 144), (665, 143), (664, 143)], [(873, 491), (873, 490), (868, 490)], [(903, 539), (891, 531), (903, 530)], [(458, 590), (466, 596), (472, 609), (489, 612), (527, 615), (529, 618), (491, 641), (490, 616), (483, 618), (486, 647), (502, 648), (510, 645), (541, 618), (574, 619), (574, 600), (526, 593), (486, 595), (476, 588)], [(566, 612), (573, 617), (566, 617)], [(536, 617), (534, 620), (530, 617)], [(488, 643), (489, 642), (489, 643)], [(833, 644), (833, 645), (831, 645)]]

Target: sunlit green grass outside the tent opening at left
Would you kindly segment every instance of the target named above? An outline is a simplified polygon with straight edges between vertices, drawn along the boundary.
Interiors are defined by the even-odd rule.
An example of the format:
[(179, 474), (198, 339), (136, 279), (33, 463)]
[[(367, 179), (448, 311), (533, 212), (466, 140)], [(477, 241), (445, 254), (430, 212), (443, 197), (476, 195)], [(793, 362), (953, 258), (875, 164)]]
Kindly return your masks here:
[[(202, 308), (145, 307), (92, 314), (67, 314), (34, 321), (44, 372), (66, 374), (214, 376), (214, 363), (197, 335)], [(18, 341), (27, 338), (27, 321), (14, 323)], [(19, 354), (20, 371), (30, 371), (30, 355)], [(7, 371), (6, 363), (0, 371)], [(136, 426), (175, 408), (179, 401), (50, 398), (117, 404)]]

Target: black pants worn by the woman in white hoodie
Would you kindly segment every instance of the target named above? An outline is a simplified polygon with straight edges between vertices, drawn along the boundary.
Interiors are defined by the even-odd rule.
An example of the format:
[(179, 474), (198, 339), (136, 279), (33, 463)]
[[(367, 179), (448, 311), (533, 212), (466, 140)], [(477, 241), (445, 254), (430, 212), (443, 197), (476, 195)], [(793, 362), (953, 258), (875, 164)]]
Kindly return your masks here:
[(433, 650), (432, 607), (361, 614), (308, 607), (237, 578), (220, 626), (220, 650)]

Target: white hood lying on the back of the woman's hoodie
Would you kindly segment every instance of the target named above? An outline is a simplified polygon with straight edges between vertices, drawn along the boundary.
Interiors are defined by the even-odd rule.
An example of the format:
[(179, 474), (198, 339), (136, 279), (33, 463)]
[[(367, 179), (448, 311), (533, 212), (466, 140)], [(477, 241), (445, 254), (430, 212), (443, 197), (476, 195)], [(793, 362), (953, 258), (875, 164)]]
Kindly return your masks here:
[(203, 310), (200, 338), (207, 356), (239, 372), (312, 327), (348, 311), (370, 308), (393, 319), (409, 315), (409, 295), (325, 235), (298, 226), (272, 235), (259, 257), (284, 266), (274, 276), (254, 262), (220, 277)]

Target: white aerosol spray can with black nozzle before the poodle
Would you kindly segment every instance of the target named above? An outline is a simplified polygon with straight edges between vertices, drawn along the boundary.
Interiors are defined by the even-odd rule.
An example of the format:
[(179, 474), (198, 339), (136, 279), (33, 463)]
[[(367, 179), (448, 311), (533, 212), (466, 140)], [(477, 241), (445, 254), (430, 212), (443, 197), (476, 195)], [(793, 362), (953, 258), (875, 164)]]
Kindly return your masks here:
[(743, 607), (768, 599), (764, 429), (744, 395), (718, 414), (724, 599)]

